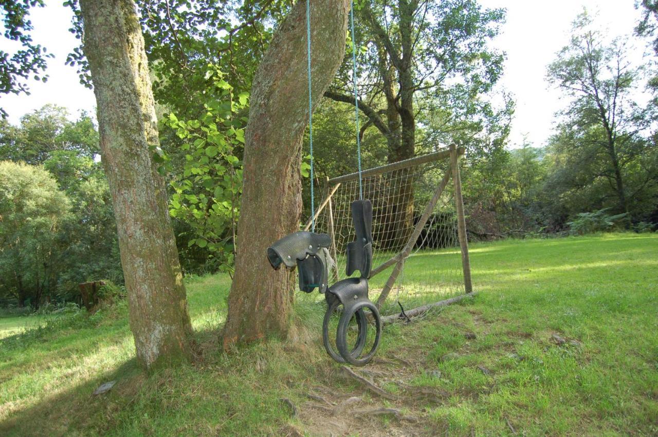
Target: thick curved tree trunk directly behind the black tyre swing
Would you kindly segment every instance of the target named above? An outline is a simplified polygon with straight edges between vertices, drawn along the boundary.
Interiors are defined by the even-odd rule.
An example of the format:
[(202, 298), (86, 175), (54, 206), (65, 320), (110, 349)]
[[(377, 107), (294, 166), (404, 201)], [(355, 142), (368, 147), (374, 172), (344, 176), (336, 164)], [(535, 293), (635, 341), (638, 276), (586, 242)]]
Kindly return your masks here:
[[(311, 1), (313, 103), (345, 53), (347, 0)], [(255, 74), (245, 133), (236, 273), (228, 296), (224, 348), (286, 336), (295, 279), (273, 270), (266, 248), (299, 230), (301, 146), (309, 117), (306, 3), (298, 1), (274, 34)]]

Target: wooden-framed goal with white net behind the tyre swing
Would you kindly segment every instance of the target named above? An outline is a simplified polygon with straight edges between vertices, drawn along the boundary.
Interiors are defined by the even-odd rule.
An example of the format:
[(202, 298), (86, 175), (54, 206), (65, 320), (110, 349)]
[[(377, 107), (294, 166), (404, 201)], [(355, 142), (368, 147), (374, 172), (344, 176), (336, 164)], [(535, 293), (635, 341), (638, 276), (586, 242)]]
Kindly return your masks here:
[[(455, 203), (461, 196), (454, 195), (452, 176), (449, 150), (361, 172), (363, 198), (373, 211), (370, 299), (382, 314), (399, 313), (400, 304), (409, 310), (470, 291), (470, 273), (466, 287), (463, 268), (468, 248), (460, 244)], [(327, 182), (315, 231), (332, 237), (334, 283), (346, 277), (345, 249), (355, 239), (350, 205), (359, 199), (359, 175)], [(311, 219), (305, 229), (310, 227)]]

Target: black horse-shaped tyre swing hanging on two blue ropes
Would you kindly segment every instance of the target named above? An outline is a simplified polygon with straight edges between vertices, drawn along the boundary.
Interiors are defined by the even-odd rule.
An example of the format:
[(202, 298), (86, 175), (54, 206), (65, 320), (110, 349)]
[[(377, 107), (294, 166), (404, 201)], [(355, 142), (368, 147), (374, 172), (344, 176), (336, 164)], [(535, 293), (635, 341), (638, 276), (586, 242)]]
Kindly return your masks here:
[[(311, 154), (311, 232), (299, 231), (286, 235), (267, 248), (267, 258), (274, 269), (281, 264), (288, 268), (297, 267), (299, 273), (299, 290), (312, 292), (318, 288), (324, 294), (327, 310), (322, 323), (322, 342), (326, 352), (339, 363), (365, 365), (374, 356), (382, 333), (382, 319), (377, 307), (368, 298), (368, 276), (372, 267), (372, 202), (363, 198), (361, 178), (361, 139), (359, 138), (359, 93), (357, 88), (357, 56), (354, 36), (354, 3), (351, 1), (349, 12), (352, 37), (352, 64), (354, 82), (355, 124), (357, 137), (357, 162), (359, 171), (359, 199), (351, 203), (352, 221), (355, 229), (355, 241), (347, 244), (346, 273), (351, 276), (359, 271), (359, 277), (348, 277), (331, 287), (328, 285), (328, 266), (333, 264), (329, 247), (332, 243), (327, 234), (315, 233), (315, 196), (313, 189), (313, 100), (311, 97), (311, 7), (306, 0), (306, 38), (307, 66), (309, 81), (309, 148)], [(343, 306), (342, 315), (336, 329), (336, 349), (330, 341), (329, 328), (332, 315)], [(375, 338), (370, 350), (363, 353), (368, 336), (368, 317), (365, 310), (372, 313), (375, 325)], [(349, 323), (355, 318), (358, 334), (353, 346), (347, 344)]]

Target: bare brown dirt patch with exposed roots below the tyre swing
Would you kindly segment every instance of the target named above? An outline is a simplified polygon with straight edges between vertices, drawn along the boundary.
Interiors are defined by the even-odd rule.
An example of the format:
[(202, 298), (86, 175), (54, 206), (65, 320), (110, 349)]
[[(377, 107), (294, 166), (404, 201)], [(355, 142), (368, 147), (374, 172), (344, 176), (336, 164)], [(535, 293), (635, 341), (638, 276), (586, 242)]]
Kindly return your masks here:
[[(428, 411), (449, 394), (438, 388), (415, 387), (411, 380), (424, 371), (426, 356), (397, 351), (376, 357), (364, 368), (332, 369), (296, 405), (300, 428), (322, 436), (432, 436), (440, 432)], [(337, 383), (338, 381), (338, 383)], [(299, 428), (284, 433), (296, 435)]]

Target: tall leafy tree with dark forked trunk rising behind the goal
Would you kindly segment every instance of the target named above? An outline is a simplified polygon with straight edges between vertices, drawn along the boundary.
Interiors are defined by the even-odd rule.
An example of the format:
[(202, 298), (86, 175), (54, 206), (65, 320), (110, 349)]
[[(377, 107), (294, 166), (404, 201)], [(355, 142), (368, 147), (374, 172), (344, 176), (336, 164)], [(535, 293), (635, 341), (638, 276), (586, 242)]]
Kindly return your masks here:
[[(452, 124), (477, 112), (467, 103), (474, 104), (501, 76), (503, 55), (488, 42), (503, 20), (503, 10), (482, 9), (476, 0), (363, 3), (357, 40), (365, 45), (359, 53), (359, 85), (367, 98), (359, 101), (359, 109), (368, 127), (386, 137), (389, 162), (414, 155), (418, 112), (434, 109), (418, 106), (417, 93), (432, 104), (437, 103), (433, 97), (443, 96)], [(326, 97), (355, 104), (350, 71), (351, 57)]]

